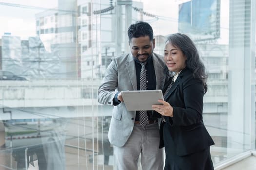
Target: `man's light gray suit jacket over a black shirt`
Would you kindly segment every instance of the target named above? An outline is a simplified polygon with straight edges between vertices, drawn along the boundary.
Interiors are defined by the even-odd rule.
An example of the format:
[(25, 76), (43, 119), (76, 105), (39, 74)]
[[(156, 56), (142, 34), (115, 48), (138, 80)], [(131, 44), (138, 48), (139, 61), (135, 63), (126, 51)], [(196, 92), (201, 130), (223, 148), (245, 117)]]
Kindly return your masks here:
[[(153, 53), (153, 65), (156, 74), (156, 89), (162, 89), (164, 83), (163, 57)], [(137, 90), (136, 70), (132, 54), (124, 54), (112, 60), (108, 66), (103, 83), (98, 89), (98, 102), (113, 105), (117, 91)], [(114, 106), (108, 139), (111, 144), (122, 147), (133, 131), (136, 111), (127, 111), (124, 103)]]

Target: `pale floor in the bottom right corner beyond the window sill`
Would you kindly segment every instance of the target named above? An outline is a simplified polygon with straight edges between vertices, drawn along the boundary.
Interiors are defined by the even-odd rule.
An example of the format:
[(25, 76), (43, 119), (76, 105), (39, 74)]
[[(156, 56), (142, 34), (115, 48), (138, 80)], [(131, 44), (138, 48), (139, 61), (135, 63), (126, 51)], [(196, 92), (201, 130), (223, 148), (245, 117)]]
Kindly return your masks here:
[(250, 156), (221, 170), (256, 170), (256, 156)]

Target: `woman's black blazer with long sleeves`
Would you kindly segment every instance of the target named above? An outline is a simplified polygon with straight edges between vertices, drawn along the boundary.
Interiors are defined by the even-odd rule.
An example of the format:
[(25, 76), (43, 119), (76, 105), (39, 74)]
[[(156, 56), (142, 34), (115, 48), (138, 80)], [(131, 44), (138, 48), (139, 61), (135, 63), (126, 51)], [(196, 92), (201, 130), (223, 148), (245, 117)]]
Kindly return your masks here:
[[(163, 92), (166, 91), (169, 83), (166, 83)], [(165, 126), (168, 126), (165, 129), (169, 132), (165, 131), (163, 134), (162, 123), (160, 148), (164, 147), (163, 136), (165, 135), (172, 136), (171, 149), (179, 156), (195, 153), (214, 145), (203, 124), (203, 96), (202, 81), (195, 79), (188, 68), (183, 69), (164, 99), (173, 107), (174, 117), (164, 116)]]

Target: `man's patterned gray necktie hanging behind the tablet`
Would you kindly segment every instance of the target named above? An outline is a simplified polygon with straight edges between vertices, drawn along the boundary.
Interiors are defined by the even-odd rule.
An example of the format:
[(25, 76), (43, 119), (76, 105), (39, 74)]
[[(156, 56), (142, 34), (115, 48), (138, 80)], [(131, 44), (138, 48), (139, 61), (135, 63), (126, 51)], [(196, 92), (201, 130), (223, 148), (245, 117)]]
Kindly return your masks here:
[[(146, 62), (140, 64), (142, 66), (140, 70), (140, 90), (147, 90), (147, 74), (145, 69)], [(148, 114), (146, 110), (139, 111), (139, 121), (143, 127), (148, 125)]]

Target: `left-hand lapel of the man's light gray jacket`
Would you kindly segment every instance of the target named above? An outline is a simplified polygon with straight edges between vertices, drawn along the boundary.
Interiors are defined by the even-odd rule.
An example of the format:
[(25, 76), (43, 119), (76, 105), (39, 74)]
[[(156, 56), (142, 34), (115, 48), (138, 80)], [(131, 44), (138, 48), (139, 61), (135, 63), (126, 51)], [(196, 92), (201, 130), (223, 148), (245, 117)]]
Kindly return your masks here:
[(137, 90), (135, 63), (131, 53), (129, 54), (129, 57), (127, 58), (127, 63), (125, 65), (127, 68), (127, 74), (129, 75), (130, 81), (133, 86), (133, 90)]

